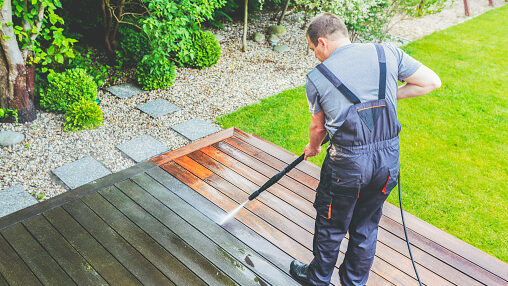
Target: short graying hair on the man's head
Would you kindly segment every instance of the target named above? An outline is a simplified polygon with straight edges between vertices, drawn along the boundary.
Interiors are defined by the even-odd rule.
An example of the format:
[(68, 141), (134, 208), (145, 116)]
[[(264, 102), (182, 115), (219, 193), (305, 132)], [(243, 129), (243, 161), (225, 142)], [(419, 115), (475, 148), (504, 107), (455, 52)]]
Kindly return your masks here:
[(307, 36), (315, 46), (318, 45), (318, 38), (333, 38), (337, 33), (342, 34), (345, 38), (349, 37), (344, 22), (328, 12), (317, 15), (307, 28)]

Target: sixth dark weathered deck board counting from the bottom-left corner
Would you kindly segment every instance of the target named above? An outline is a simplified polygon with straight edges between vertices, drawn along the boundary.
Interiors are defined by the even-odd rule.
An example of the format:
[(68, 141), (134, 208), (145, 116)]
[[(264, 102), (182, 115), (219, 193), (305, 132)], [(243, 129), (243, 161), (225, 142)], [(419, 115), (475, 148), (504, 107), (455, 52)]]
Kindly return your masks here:
[(206, 285), (99, 193), (89, 195), (82, 201), (173, 283), (177, 285)]

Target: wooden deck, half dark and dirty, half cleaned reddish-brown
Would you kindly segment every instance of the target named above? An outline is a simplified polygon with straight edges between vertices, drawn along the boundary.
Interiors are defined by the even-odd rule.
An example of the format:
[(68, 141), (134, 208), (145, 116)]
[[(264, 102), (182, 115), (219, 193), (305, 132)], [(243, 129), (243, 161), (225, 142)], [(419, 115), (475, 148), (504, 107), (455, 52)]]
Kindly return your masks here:
[[(228, 129), (0, 218), (0, 286), (299, 285), (289, 263), (313, 257), (318, 167), (303, 162), (218, 225), (295, 158)], [(508, 285), (507, 264), (406, 220), (425, 285)], [(368, 285), (417, 285), (408, 256), (399, 209), (386, 203)]]

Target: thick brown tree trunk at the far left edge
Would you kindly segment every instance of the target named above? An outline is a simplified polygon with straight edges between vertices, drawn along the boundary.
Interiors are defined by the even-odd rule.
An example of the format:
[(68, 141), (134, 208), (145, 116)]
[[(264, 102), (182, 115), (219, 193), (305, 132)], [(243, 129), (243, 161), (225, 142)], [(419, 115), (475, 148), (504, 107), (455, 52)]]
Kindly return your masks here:
[[(0, 23), (11, 22), (11, 1), (6, 0)], [(33, 121), (37, 118), (33, 103), (35, 68), (27, 67), (12, 26), (2, 25), (0, 43), (0, 106), (18, 110), (19, 122)]]

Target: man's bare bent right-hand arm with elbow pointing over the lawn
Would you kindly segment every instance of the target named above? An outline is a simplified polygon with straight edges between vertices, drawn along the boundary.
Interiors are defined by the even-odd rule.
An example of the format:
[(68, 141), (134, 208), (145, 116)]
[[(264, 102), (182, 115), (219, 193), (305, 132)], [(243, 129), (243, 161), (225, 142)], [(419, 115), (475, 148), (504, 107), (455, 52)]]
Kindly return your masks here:
[(439, 76), (424, 65), (420, 66), (414, 74), (405, 78), (404, 81), (406, 84), (399, 87), (397, 99), (424, 95), (441, 87)]

